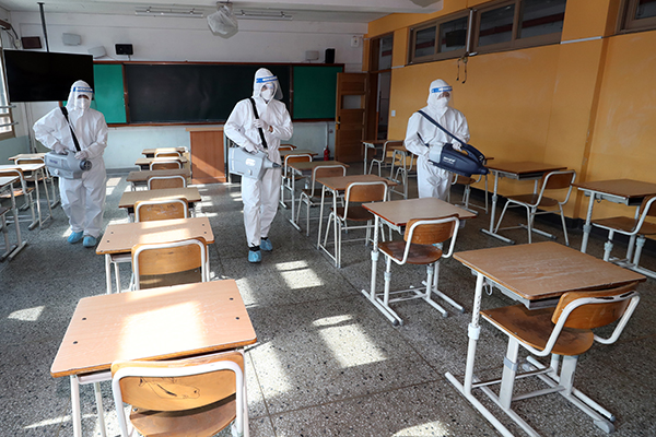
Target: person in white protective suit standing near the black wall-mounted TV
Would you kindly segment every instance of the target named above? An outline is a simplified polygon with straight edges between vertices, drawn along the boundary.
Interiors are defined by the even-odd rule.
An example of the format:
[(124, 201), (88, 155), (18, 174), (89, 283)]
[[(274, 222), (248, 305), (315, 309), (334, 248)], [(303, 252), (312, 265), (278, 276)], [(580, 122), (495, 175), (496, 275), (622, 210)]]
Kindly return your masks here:
[[(61, 206), (69, 217), (70, 244), (82, 239), (84, 247), (95, 247), (103, 228), (105, 186), (107, 175), (103, 153), (107, 146), (107, 123), (99, 111), (90, 108), (93, 90), (84, 81), (71, 86), (66, 108), (67, 122), (61, 108), (55, 108), (34, 123), (34, 134), (42, 144), (57, 153), (69, 151), (80, 161), (91, 161), (92, 167), (80, 179), (59, 178)], [(71, 133), (80, 145), (77, 152)]]

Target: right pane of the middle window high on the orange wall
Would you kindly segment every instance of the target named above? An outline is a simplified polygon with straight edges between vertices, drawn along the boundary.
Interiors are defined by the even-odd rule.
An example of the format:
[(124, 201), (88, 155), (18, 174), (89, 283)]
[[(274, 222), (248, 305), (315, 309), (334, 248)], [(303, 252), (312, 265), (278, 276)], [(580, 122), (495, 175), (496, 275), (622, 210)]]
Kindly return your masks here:
[(519, 38), (561, 33), (566, 0), (524, 0)]

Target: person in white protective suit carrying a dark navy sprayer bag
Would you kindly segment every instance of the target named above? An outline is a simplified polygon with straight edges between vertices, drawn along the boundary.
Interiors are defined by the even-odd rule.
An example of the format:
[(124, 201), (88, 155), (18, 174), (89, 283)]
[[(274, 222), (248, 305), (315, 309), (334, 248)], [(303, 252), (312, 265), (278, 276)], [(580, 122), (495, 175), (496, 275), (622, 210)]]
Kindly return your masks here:
[[(452, 87), (445, 81), (441, 79), (433, 81), (429, 88), (429, 106), (422, 110), (467, 143), (469, 141), (467, 119), (462, 113), (449, 106), (450, 94)], [(455, 150), (460, 150), (458, 141), (443, 132), (421, 114), (412, 114), (408, 120), (405, 145), (406, 149), (418, 156), (417, 188), (420, 198), (446, 200), (452, 174), (429, 162), (430, 149), (442, 147), (446, 143), (452, 143)]]

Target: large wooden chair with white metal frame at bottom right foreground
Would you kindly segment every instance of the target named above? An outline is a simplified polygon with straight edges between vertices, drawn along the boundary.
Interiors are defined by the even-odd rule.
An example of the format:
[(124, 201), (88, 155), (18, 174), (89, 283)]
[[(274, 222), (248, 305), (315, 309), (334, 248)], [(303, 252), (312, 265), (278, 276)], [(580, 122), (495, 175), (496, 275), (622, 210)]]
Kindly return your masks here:
[[(574, 371), (578, 356), (588, 351), (594, 342), (614, 343), (626, 326), (640, 300), (635, 292), (636, 283), (586, 292), (569, 292), (562, 295), (554, 308), (527, 309), (524, 305), (513, 305), (481, 311), (483, 319), (508, 336), (501, 379), (475, 383), (481, 388), (515, 423), (529, 435), (537, 433), (512, 409), (511, 403), (537, 395), (558, 392), (584, 413), (593, 417), (595, 425), (611, 433), (614, 430), (610, 412), (573, 387)], [(612, 334), (598, 336), (593, 332), (617, 321)], [(606, 331), (610, 332), (610, 331)], [(518, 373), (519, 346), (536, 356), (551, 355), (546, 366), (529, 356)], [(561, 364), (562, 357), (562, 364)], [(560, 367), (560, 373), (559, 373)], [(549, 387), (525, 394), (513, 394), (515, 379), (539, 377)], [(599, 375), (602, 378), (602, 375)], [(600, 380), (605, 383), (604, 380)], [(489, 387), (501, 383), (499, 394)]]

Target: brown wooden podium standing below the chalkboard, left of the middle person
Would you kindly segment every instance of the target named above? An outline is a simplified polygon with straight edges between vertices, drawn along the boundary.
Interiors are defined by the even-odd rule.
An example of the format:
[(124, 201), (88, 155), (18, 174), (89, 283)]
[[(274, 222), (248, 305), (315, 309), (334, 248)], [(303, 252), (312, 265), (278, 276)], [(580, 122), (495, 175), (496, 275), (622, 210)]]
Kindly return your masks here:
[(191, 143), (191, 182), (225, 182), (223, 127), (187, 128)]

